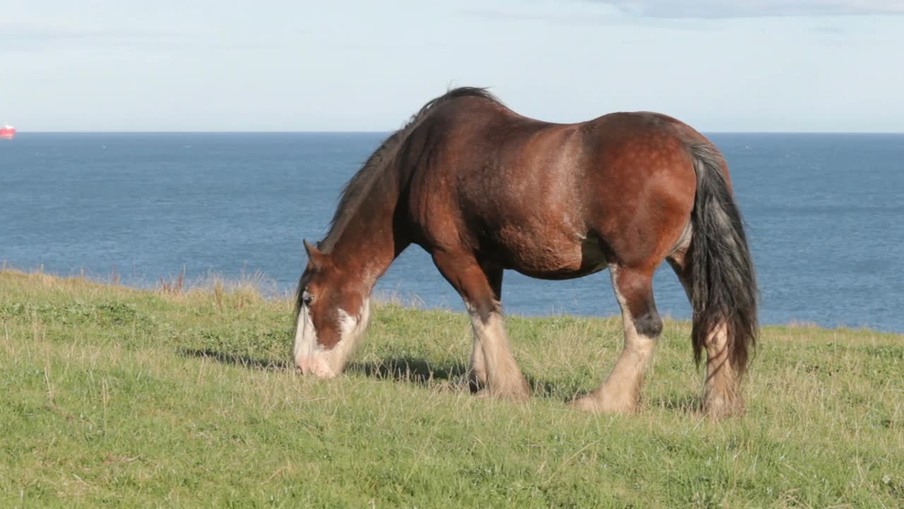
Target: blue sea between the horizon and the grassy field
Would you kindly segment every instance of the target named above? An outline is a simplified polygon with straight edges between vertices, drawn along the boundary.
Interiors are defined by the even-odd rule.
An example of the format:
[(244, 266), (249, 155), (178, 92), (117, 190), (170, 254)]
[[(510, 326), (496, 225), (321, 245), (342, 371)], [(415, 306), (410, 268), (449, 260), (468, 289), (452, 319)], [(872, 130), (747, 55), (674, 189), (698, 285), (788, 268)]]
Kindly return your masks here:
[[(297, 283), (339, 189), (380, 133), (31, 134), (0, 141), (0, 261), (153, 285), (260, 272)], [(758, 269), (761, 321), (904, 331), (904, 135), (712, 134)], [(660, 312), (689, 317), (667, 266)], [(417, 246), (382, 278), (404, 302), (462, 309)], [(606, 272), (507, 272), (507, 312), (617, 314)]]

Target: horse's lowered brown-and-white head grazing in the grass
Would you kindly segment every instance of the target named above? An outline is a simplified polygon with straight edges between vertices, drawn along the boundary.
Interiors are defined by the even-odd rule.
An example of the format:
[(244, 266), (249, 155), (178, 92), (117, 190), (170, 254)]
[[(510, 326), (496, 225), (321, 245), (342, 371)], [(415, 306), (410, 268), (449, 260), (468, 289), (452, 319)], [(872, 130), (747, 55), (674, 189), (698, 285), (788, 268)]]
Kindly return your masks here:
[(346, 274), (331, 255), (305, 241), (307, 267), (298, 282), (295, 364), (302, 373), (332, 378), (363, 335), (369, 289)]

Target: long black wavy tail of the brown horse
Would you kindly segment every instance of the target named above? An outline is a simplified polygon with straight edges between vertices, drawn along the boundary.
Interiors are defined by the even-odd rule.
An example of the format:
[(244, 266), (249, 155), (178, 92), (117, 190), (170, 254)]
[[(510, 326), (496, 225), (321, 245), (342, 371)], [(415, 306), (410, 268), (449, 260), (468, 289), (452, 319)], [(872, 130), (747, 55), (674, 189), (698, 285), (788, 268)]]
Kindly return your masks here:
[(728, 361), (740, 376), (758, 333), (753, 261), (719, 151), (707, 143), (694, 143), (688, 150), (697, 173), (687, 282), (693, 307), (693, 357), (699, 364), (707, 339), (724, 326)]

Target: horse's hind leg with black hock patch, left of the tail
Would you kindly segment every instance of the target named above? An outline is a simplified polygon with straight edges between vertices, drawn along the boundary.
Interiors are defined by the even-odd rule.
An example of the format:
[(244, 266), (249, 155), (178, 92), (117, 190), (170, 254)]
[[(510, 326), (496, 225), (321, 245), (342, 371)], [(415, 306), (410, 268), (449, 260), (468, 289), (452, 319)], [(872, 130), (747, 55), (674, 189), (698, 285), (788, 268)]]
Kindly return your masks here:
[(633, 411), (656, 338), (663, 321), (653, 298), (654, 269), (609, 266), (612, 287), (622, 310), (625, 346), (615, 368), (603, 385), (574, 402), (575, 407), (591, 412), (627, 413)]

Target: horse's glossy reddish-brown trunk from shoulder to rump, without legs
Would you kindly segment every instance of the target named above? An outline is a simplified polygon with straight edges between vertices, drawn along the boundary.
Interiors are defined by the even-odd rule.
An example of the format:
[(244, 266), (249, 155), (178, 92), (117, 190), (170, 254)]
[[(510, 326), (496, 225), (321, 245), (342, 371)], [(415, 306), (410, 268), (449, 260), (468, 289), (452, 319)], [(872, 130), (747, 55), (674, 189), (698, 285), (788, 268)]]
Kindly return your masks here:
[(555, 124), (461, 98), (419, 129), (428, 156), (411, 179), (410, 212), (428, 250), (577, 277), (662, 251), (676, 239), (661, 231), (680, 231), (691, 213), (686, 144), (696, 131), (665, 115)]

